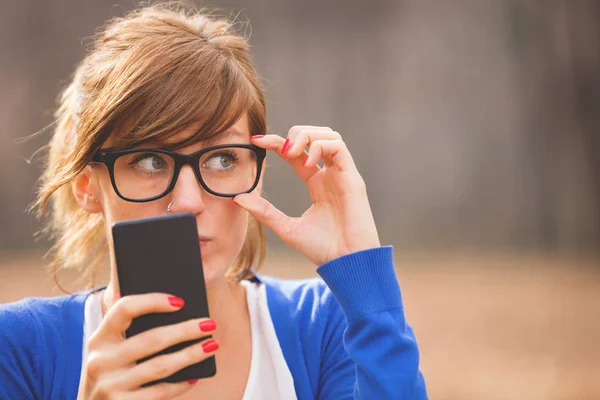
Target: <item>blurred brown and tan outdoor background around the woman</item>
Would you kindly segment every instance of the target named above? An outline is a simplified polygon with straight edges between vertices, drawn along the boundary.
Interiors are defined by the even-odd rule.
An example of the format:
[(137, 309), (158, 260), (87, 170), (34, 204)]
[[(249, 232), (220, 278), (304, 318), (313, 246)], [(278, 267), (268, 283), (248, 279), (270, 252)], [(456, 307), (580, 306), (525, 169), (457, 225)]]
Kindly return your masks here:
[[(25, 212), (32, 156), (87, 38), (135, 4), (2, 3), (2, 303), (59, 293)], [(343, 135), (395, 246), (431, 398), (600, 398), (599, 1), (197, 4), (250, 21), (270, 132)], [(306, 189), (275, 158), (266, 195), (300, 215)], [(316, 275), (272, 234), (265, 272)]]

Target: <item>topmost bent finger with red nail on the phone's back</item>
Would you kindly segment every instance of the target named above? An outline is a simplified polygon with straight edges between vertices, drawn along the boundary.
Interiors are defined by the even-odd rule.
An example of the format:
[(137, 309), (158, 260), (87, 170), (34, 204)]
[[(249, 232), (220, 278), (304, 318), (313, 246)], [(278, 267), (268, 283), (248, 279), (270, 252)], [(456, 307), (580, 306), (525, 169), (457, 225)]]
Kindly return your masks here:
[(183, 307), (183, 299), (166, 293), (145, 293), (121, 297), (108, 310), (96, 336), (118, 337), (129, 328), (134, 318), (152, 313), (175, 312)]

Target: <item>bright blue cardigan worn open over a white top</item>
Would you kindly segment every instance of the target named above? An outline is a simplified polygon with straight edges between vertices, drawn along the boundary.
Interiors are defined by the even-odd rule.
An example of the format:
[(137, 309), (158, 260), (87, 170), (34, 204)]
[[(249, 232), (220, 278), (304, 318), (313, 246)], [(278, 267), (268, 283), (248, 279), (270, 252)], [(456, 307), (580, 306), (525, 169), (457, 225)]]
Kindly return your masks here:
[[(427, 399), (391, 247), (259, 275), (299, 399)], [(324, 281), (324, 282), (323, 282)], [(89, 292), (0, 305), (0, 399), (76, 399)]]

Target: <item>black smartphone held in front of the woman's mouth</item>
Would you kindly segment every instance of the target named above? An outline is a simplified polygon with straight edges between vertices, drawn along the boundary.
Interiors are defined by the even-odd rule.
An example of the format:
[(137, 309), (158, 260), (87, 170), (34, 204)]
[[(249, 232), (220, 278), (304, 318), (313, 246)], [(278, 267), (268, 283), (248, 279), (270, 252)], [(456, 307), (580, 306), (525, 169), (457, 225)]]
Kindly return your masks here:
[[(158, 326), (209, 316), (194, 214), (178, 213), (116, 222), (112, 226), (112, 235), (121, 296), (163, 292), (185, 301), (185, 306), (179, 311), (147, 314), (134, 319), (126, 332), (127, 337)], [(179, 343), (138, 360), (138, 363), (179, 351), (199, 341)], [(207, 378), (216, 372), (215, 357), (212, 356), (148, 385)]]

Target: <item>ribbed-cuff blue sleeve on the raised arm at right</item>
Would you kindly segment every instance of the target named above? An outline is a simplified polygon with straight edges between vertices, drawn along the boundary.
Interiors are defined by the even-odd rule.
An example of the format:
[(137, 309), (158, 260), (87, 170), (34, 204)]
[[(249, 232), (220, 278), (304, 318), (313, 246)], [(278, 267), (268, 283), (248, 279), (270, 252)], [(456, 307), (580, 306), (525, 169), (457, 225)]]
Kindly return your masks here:
[(329, 304), (318, 398), (427, 399), (392, 248), (349, 254), (317, 272), (335, 297)]

